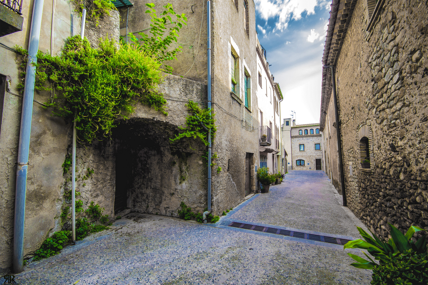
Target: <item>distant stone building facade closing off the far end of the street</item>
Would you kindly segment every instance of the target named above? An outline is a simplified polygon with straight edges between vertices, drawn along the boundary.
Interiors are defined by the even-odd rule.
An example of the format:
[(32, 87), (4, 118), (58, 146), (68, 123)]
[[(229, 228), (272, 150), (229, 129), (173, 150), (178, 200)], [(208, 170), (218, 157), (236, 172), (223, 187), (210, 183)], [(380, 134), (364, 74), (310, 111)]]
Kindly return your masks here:
[(322, 135), (319, 124), (291, 127), (291, 169), (324, 170)]

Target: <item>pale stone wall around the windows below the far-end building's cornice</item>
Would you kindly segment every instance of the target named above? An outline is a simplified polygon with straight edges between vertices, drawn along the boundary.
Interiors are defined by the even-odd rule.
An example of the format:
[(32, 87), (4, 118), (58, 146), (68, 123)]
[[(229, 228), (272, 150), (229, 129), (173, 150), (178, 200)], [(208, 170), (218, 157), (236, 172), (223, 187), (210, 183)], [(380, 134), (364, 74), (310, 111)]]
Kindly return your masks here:
[[(299, 144), (305, 145), (305, 150), (299, 150)], [(323, 167), (322, 150), (315, 150), (315, 144), (322, 144), (321, 135), (302, 135), (291, 137), (291, 148), (293, 150), (293, 170), (316, 170), (315, 159), (321, 159), (321, 169)], [(305, 161), (304, 166), (296, 165), (297, 159)]]

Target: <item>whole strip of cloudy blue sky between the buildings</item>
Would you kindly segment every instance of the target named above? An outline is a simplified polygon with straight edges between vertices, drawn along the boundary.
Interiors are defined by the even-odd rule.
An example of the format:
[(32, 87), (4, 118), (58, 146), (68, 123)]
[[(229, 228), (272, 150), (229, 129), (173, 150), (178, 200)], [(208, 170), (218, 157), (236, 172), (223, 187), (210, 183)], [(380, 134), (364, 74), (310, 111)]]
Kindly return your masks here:
[(255, 0), (256, 29), (284, 100), (281, 118), (317, 123), (330, 0)]

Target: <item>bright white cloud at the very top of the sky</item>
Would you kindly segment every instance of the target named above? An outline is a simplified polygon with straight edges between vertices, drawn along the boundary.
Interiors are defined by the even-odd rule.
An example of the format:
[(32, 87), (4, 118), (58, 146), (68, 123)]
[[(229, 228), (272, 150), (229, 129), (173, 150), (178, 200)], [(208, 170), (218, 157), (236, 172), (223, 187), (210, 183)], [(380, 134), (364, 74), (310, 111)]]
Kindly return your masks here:
[(291, 19), (299, 20), (304, 11), (307, 15), (315, 14), (315, 6), (329, 7), (330, 2), (329, 0), (255, 0), (260, 18), (268, 21), (269, 18), (278, 17), (273, 32), (275, 30), (282, 32)]

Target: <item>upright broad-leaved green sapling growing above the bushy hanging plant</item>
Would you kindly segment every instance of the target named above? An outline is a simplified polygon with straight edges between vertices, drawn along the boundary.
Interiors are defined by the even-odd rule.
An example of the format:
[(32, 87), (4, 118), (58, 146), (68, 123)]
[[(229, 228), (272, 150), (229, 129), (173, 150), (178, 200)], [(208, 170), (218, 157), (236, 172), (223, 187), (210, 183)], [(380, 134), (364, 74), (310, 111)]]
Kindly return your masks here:
[[(178, 32), (180, 29), (187, 25), (186, 14), (177, 14), (174, 12), (171, 4), (166, 4), (163, 6), (165, 10), (160, 13), (158, 17), (155, 8), (155, 4), (146, 3), (146, 6), (149, 8), (146, 10), (151, 16), (150, 24), (151, 28), (149, 33), (152, 35), (147, 35), (146, 33), (138, 33), (141, 38), (135, 37), (132, 33), (129, 33), (128, 37), (131, 38), (131, 41), (139, 45), (145, 53), (147, 53), (152, 58), (156, 59), (158, 62), (165, 62), (172, 59), (177, 59), (177, 53), (181, 52), (182, 47), (180, 45), (171, 47), (171, 44), (177, 43)], [(168, 26), (167, 26), (168, 25)], [(172, 68), (169, 65), (165, 65), (164, 71), (172, 72)]]

